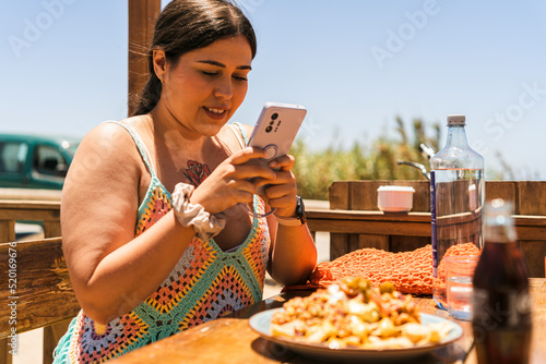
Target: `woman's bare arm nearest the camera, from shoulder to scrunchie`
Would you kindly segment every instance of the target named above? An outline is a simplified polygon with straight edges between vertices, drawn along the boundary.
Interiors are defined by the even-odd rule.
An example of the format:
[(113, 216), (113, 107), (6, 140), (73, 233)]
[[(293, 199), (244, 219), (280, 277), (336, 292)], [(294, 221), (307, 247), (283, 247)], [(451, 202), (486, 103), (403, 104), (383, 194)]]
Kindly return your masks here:
[(168, 276), (193, 230), (173, 211), (134, 238), (147, 173), (130, 135), (102, 124), (81, 143), (62, 191), (63, 250), (80, 305), (98, 323), (131, 311)]

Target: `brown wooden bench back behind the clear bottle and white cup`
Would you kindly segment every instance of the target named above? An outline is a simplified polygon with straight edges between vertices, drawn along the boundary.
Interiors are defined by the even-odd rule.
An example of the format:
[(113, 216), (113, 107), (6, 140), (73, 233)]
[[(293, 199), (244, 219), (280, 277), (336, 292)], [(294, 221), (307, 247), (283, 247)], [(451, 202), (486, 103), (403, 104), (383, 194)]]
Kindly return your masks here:
[[(377, 207), (381, 185), (415, 189), (412, 211), (384, 214)], [(530, 276), (545, 277), (546, 182), (487, 181), (486, 199), (514, 204), (519, 244)], [(330, 186), (330, 210), (309, 210), (312, 232), (330, 232), (330, 259), (364, 247), (390, 252), (430, 244), (430, 184), (428, 181), (336, 181)]]

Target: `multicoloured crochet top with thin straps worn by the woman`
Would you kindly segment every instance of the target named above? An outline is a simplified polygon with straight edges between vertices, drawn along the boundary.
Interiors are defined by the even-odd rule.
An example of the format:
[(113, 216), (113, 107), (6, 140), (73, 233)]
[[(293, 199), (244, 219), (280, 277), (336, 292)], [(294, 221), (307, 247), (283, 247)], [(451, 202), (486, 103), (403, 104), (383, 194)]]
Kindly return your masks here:
[[(171, 208), (170, 193), (152, 168), (144, 144), (127, 125), (152, 175), (138, 210), (135, 235)], [(247, 136), (242, 128), (245, 141)], [(264, 204), (254, 195), (254, 210)], [(229, 314), (262, 300), (270, 234), (264, 218), (254, 218), (249, 235), (229, 252), (214, 240), (193, 238), (165, 281), (136, 308), (104, 325), (83, 311), (72, 320), (55, 351), (54, 363), (95, 363)]]

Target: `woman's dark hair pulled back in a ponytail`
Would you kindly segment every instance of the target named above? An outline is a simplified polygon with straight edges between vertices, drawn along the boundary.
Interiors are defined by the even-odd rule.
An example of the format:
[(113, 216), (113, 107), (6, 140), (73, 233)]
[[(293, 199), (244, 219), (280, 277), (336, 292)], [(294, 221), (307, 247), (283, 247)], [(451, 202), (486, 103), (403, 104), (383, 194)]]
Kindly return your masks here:
[(218, 39), (242, 35), (252, 58), (256, 56), (256, 34), (250, 21), (229, 0), (173, 0), (157, 17), (152, 46), (147, 51), (147, 80), (133, 116), (150, 112), (159, 100), (162, 82), (154, 71), (153, 50), (163, 49), (167, 61), (176, 65), (180, 56), (210, 46)]

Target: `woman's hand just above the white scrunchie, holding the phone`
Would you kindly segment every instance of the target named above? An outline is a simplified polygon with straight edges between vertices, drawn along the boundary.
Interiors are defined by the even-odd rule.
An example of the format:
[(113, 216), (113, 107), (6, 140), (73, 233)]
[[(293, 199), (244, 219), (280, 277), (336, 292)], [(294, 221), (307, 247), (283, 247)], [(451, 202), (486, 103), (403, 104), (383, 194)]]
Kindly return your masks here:
[(247, 147), (224, 160), (204, 180), (190, 198), (210, 214), (221, 213), (239, 203), (252, 202), (258, 181), (274, 180), (276, 174), (261, 158), (261, 148)]

